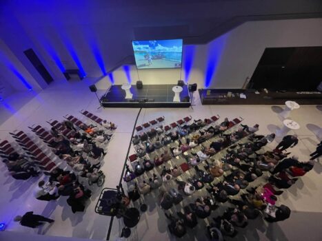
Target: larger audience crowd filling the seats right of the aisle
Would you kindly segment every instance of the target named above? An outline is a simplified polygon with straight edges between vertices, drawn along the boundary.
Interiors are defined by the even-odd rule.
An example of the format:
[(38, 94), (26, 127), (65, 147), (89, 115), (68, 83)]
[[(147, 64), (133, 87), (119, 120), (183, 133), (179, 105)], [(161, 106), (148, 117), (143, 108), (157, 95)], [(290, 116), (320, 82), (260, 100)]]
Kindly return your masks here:
[[(188, 228), (194, 228), (198, 218), (210, 217), (212, 211), (225, 202), (229, 204), (228, 208), (219, 216), (216, 212), (217, 216), (208, 224), (211, 240), (234, 237), (239, 228), (247, 227), (248, 220), (259, 216), (267, 222), (290, 217), (290, 209), (279, 205), (278, 196), (313, 168), (312, 160), (321, 155), (321, 143), (311, 154), (312, 160), (303, 162), (287, 152), (288, 148), (297, 145), (296, 135), (284, 136), (269, 151), (265, 145), (272, 143), (275, 134), (256, 134), (258, 124), (253, 127), (240, 125), (230, 132), (229, 125), (228, 118), (219, 125), (208, 119), (194, 120), (171, 132), (165, 132), (159, 126), (133, 136), (139, 160), (132, 169), (127, 166), (123, 178), (130, 187), (130, 199), (133, 193), (137, 200), (140, 193), (143, 196), (154, 189), (159, 190), (159, 205), (169, 220), (170, 233), (177, 237), (185, 235)], [(223, 154), (220, 160), (214, 157), (219, 152)], [(194, 171), (189, 171), (186, 180), (182, 180), (184, 171), (177, 166), (179, 159), (175, 157), (193, 167)], [(172, 167), (166, 167), (169, 160)], [(145, 172), (147, 175), (143, 175)], [(261, 176), (264, 177), (261, 182), (252, 185)], [(206, 190), (208, 194), (203, 192), (194, 202), (185, 205), (183, 212), (172, 211), (173, 205), (178, 205), (185, 197), (193, 197), (197, 190)]]

